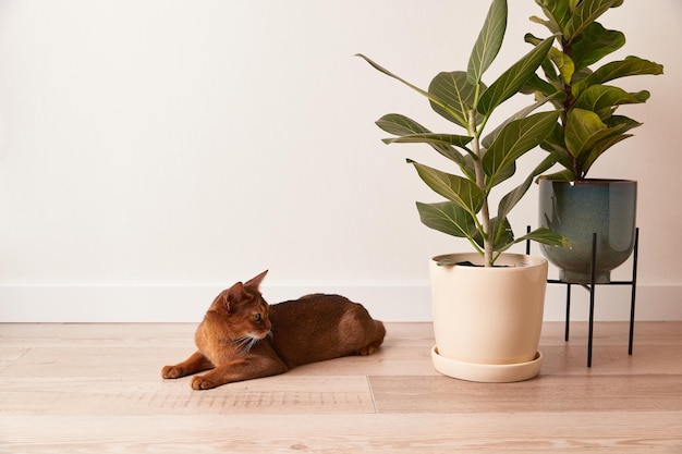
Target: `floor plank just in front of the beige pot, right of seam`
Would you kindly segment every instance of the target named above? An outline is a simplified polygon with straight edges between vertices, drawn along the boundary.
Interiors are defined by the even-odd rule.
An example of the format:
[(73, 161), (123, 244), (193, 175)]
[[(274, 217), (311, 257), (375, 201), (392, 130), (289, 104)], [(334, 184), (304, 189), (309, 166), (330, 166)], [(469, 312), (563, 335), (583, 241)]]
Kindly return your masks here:
[[(447, 377), (370, 377), (379, 413), (599, 413), (682, 410), (679, 376), (541, 376), (517, 383)], [(680, 421), (682, 424), (682, 421)]]

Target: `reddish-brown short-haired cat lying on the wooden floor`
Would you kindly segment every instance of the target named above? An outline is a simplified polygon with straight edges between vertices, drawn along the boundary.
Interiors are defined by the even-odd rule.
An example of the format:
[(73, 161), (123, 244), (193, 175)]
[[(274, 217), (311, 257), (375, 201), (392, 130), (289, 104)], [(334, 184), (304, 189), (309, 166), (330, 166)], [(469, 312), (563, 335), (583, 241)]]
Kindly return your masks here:
[(369, 355), (383, 342), (383, 323), (360, 304), (315, 294), (270, 306), (258, 286), (267, 271), (222, 291), (196, 330), (198, 352), (161, 370), (192, 379), (195, 390), (273, 376), (308, 363)]

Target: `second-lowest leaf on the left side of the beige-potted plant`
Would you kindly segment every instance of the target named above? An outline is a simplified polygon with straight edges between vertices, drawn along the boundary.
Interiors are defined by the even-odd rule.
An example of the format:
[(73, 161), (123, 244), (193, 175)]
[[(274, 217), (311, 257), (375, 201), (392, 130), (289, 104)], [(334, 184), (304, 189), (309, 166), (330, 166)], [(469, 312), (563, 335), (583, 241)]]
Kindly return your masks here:
[(407, 162), (415, 167), (419, 177), (428, 187), (466, 210), (472, 217), (475, 217), (483, 207), (483, 191), (471, 180), (441, 172), (413, 160), (407, 160)]

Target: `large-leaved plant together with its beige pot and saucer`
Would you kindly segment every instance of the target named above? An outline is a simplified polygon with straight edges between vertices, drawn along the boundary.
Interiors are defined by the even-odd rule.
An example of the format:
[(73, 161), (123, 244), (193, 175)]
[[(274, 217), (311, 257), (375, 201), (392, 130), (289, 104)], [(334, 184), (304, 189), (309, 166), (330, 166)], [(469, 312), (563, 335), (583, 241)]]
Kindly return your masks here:
[(428, 144), (460, 170), (458, 175), (407, 160), (419, 177), (446, 198), (434, 204), (417, 203), (422, 222), (468, 240), (474, 249), (441, 255), (430, 262), (436, 336), (431, 357), (440, 372), (476, 381), (532, 378), (541, 364), (537, 346), (547, 261), (504, 251), (526, 240), (548, 246), (567, 245), (562, 236), (546, 228), (515, 237), (508, 221), (533, 180), (556, 162), (553, 155), (547, 156), (500, 199), (496, 216), (491, 210), (494, 189), (515, 173), (520, 157), (548, 137), (560, 115), (556, 110), (533, 113), (557, 96), (552, 94), (500, 122), (484, 136), (492, 113), (520, 93), (546, 60), (553, 41), (550, 37), (538, 42), (492, 84), (484, 84), (484, 73), (502, 45), (507, 14), (507, 1), (492, 0), (467, 70), (439, 73), (427, 90), (358, 54), (376, 70), (426, 97), (436, 113), (464, 130), (461, 135), (431, 133), (398, 113), (377, 121), (381, 130), (395, 136), (385, 143)]

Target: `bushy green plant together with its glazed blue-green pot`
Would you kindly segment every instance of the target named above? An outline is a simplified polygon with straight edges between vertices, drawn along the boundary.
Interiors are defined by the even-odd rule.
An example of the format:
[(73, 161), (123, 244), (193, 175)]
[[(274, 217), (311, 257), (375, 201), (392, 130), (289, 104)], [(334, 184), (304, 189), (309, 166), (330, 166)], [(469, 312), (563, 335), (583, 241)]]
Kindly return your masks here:
[[(592, 281), (593, 235), (597, 234), (595, 283), (610, 282), (610, 271), (630, 257), (634, 247), (637, 182), (588, 179), (601, 155), (631, 137), (641, 123), (616, 114), (623, 105), (645, 102), (646, 90), (628, 93), (611, 84), (621, 77), (662, 74), (662, 65), (628, 57), (590, 65), (625, 44), (621, 32), (607, 29), (597, 20), (623, 0), (536, 0), (544, 19), (531, 20), (546, 26), (556, 37), (543, 63), (544, 77), (534, 75), (525, 93), (551, 99), (560, 116), (541, 144), (564, 170), (539, 179), (539, 223), (561, 233), (571, 249), (546, 248), (544, 255), (559, 267), (560, 280)], [(525, 40), (541, 39), (528, 34)]]

